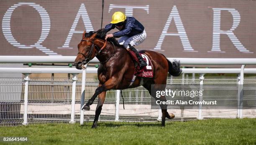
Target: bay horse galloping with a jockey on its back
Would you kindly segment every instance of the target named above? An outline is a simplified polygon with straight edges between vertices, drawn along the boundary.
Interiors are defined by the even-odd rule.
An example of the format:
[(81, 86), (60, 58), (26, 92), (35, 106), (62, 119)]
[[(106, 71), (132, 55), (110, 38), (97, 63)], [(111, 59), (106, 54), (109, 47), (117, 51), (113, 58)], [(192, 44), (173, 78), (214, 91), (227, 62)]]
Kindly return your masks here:
[[(92, 98), (82, 107), (82, 110), (90, 110), (95, 98), (98, 96), (98, 104), (95, 112), (95, 119), (92, 128), (97, 127), (97, 121), (100, 116), (102, 105), (105, 100), (106, 91), (110, 89), (123, 90), (126, 88), (134, 88), (138, 86), (145, 87), (151, 94), (151, 85), (156, 86), (156, 90), (164, 90), (166, 86), (166, 79), (168, 72), (172, 76), (179, 76), (182, 73), (180, 69), (179, 61), (169, 61), (163, 54), (158, 52), (144, 50), (143, 52), (151, 60), (153, 74), (151, 78), (136, 77), (133, 84), (130, 86), (133, 79), (135, 64), (133, 63), (128, 51), (120, 44), (115, 38), (108, 38), (105, 41), (106, 36), (105, 29), (99, 29), (97, 32), (91, 31), (86, 33), (84, 31), (81, 42), (78, 44), (78, 54), (74, 61), (77, 69), (82, 69), (84, 64), (87, 64), (94, 57), (100, 61), (100, 66), (97, 70), (97, 76), (99, 79), (99, 86), (95, 90)], [(100, 49), (104, 48), (104, 49)], [(166, 101), (165, 96), (156, 98), (156, 100)], [(161, 106), (162, 120), (161, 125), (165, 126), (165, 118), (172, 119), (174, 114), (167, 112), (166, 106)]]

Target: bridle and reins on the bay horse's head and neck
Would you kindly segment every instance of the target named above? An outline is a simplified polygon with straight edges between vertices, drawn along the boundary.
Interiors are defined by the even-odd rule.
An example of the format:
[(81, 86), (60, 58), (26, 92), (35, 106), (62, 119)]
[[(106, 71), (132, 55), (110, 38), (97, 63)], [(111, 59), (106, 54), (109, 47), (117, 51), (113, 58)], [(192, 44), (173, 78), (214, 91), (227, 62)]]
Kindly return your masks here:
[[(80, 52), (78, 52), (77, 54), (82, 54), (82, 56), (84, 56), (84, 58), (85, 58), (85, 61), (83, 62), (83, 65), (84, 64), (87, 64), (90, 60), (92, 60), (92, 59), (90, 59), (91, 58), (91, 56), (92, 56), (92, 51), (93, 51), (93, 49), (94, 49), (94, 47), (97, 47), (97, 53), (95, 54), (95, 57), (97, 57), (97, 55), (99, 55), (100, 54), (100, 52), (106, 47), (106, 44), (107, 44), (107, 40), (105, 41), (105, 43), (104, 43), (104, 45), (102, 46), (102, 48), (101, 49), (99, 49), (99, 47), (96, 45), (96, 44), (94, 44), (94, 41), (92, 40), (92, 41), (90, 41), (90, 40), (84, 40), (84, 39), (82, 39), (81, 41), (86, 41), (86, 42), (91, 42), (92, 43), (92, 46), (91, 46), (91, 49), (90, 49), (90, 52), (89, 52), (89, 54), (87, 55), (87, 56), (85, 56), (84, 54), (82, 54), (82, 53), (80, 53)], [(111, 42), (112, 44), (113, 44), (113, 42)], [(114, 49), (115, 49), (115, 45), (113, 44), (113, 46), (114, 46)], [(116, 50), (116, 49), (115, 49)], [(113, 54), (115, 54), (115, 51), (111, 54), (111, 56), (107, 59), (107, 60), (105, 60), (104, 62), (100, 62), (100, 64), (105, 64), (112, 56), (113, 56)]]

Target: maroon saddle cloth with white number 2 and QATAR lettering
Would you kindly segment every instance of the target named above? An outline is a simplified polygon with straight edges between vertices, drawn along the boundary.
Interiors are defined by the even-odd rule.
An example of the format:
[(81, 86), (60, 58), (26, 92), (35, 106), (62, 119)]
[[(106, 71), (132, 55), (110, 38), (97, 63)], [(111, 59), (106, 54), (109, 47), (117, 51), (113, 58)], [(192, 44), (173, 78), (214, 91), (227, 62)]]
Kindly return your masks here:
[(130, 54), (131, 58), (133, 59), (135, 70), (134, 70), (134, 75), (139, 76), (139, 77), (144, 77), (144, 78), (151, 78), (153, 77), (153, 66), (151, 63), (151, 60), (148, 58), (148, 56), (145, 54), (145, 51), (139, 51), (139, 54), (141, 57), (146, 61), (148, 64), (147, 66), (143, 66), (142, 68), (139, 66), (139, 60), (136, 57), (136, 54), (133, 51), (128, 51)]

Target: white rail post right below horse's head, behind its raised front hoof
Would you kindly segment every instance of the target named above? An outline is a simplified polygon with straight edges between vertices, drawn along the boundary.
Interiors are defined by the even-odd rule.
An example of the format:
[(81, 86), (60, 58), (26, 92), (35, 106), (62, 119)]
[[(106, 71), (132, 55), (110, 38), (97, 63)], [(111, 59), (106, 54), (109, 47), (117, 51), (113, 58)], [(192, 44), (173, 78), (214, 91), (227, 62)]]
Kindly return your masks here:
[[(87, 68), (87, 64), (85, 67)], [(84, 125), (84, 111), (82, 110), (82, 106), (84, 106), (85, 80), (86, 80), (86, 69), (82, 71), (80, 125)]]

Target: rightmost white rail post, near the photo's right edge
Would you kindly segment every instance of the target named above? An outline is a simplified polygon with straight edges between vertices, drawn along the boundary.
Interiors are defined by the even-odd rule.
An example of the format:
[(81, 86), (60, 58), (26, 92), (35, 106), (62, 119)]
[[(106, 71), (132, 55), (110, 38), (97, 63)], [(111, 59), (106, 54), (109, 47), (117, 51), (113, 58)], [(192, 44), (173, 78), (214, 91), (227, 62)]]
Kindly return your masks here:
[(237, 117), (243, 118), (243, 71), (245, 65), (241, 66), (240, 75), (238, 75), (238, 95), (237, 95)]

